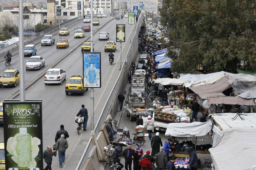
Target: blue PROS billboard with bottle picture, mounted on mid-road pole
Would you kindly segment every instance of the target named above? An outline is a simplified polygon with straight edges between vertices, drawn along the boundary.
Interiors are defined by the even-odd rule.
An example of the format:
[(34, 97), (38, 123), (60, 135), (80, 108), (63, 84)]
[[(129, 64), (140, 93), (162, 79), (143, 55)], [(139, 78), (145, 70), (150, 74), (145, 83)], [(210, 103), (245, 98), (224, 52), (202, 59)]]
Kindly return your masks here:
[(101, 53), (83, 53), (84, 87), (101, 87)]

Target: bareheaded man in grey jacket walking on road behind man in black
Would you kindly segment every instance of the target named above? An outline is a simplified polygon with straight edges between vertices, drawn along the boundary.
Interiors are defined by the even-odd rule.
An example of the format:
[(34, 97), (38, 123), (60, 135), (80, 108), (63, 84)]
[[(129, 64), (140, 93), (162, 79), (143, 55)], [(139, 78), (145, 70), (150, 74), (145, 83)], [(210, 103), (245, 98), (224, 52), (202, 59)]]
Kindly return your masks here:
[(64, 137), (64, 134), (62, 134), (60, 139), (57, 140), (56, 144), (56, 151), (58, 151), (59, 155), (60, 168), (62, 168), (62, 165), (65, 164), (65, 153), (66, 149), (68, 149), (68, 141)]

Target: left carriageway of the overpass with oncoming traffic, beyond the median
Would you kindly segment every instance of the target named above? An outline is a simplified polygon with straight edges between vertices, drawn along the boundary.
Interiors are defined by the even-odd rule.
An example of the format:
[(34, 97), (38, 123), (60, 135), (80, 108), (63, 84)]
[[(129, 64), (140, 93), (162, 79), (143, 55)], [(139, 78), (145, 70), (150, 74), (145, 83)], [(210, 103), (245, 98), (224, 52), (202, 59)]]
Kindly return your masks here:
[[(106, 22), (109, 22), (110, 19), (112, 19), (112, 18), (99, 18), (100, 25), (99, 26), (93, 26), (93, 30), (97, 29), (102, 24), (105, 24)], [(52, 46), (48, 46), (48, 45), (41, 46), (41, 39), (34, 42), (34, 44), (36, 44), (36, 48), (37, 48), (36, 55), (37, 56), (42, 56), (43, 58), (45, 58), (45, 67), (49, 66), (51, 63), (53, 63), (55, 60), (57, 60), (60, 56), (65, 54), (67, 51), (71, 50), (75, 45), (80, 44), (83, 41), (85, 41), (86, 37), (91, 35), (91, 32), (85, 32), (84, 38), (74, 38), (74, 29), (75, 29), (75, 27), (76, 26), (83, 26), (83, 24), (90, 24), (91, 25), (91, 23), (83, 23), (83, 21), (81, 20), (81, 22), (68, 27), (70, 29), (70, 35), (59, 36), (58, 32), (52, 33), (52, 34), (55, 34), (54, 35), (55, 36), (55, 44), (53, 44)], [(56, 43), (59, 40), (59, 38), (67, 38), (68, 41), (69, 41), (69, 47), (68, 48), (58, 48), (57, 49), (56, 48)], [(97, 40), (97, 37), (96, 37), (96, 40)], [(114, 40), (115, 39), (113, 38), (113, 41)], [(94, 44), (95, 44), (95, 47), (96, 47), (95, 41), (94, 41)], [(81, 55), (81, 47), (79, 47), (79, 50), (80, 50), (80, 55)], [(96, 48), (95, 48), (95, 50), (96, 50)], [(2, 75), (3, 72), (6, 69), (15, 68), (15, 69), (20, 70), (19, 69), (19, 54), (14, 55), (17, 52), (18, 52), (18, 50), (11, 52), (13, 56), (11, 58), (11, 64), (10, 65), (5, 66), (4, 62), (0, 63), (0, 75)], [(28, 59), (29, 59), (29, 56), (24, 57), (24, 67), (25, 67), (25, 64), (26, 64), (26, 60), (28, 60)], [(25, 70), (25, 83), (28, 82), (29, 80), (31, 80), (37, 74), (39, 74), (39, 72), (41, 72), (41, 71), (46, 72), (47, 70), (45, 70), (45, 67), (42, 67), (41, 70)], [(19, 89), (19, 83), (17, 83), (16, 87), (0, 88), (0, 101), (3, 101), (3, 99), (5, 99), (7, 96), (9, 96), (11, 93), (13, 93), (17, 89)]]

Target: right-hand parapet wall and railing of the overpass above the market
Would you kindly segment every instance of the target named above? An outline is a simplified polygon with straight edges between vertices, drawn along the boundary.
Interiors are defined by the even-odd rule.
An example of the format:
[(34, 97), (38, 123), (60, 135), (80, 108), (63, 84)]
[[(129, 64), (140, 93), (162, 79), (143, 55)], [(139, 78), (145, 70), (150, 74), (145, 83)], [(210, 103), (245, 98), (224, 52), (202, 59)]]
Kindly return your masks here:
[[(114, 101), (116, 101), (117, 92), (120, 91), (120, 89), (119, 89), (120, 85), (122, 85), (122, 83), (124, 83), (124, 85), (122, 87), (125, 87), (125, 84), (128, 80), (127, 67), (129, 67), (129, 66), (128, 66), (127, 62), (129, 61), (128, 63), (130, 63), (138, 55), (138, 43), (136, 43), (136, 42), (138, 42), (139, 29), (140, 29), (141, 25), (143, 24), (143, 22), (144, 22), (144, 17), (141, 16), (138, 19), (138, 25), (136, 27), (133, 39), (130, 43), (128, 53), (125, 57), (125, 60), (124, 60), (125, 62), (123, 62), (122, 70), (117, 78), (117, 81), (115, 82), (114, 87), (112, 88), (112, 91), (110, 92), (109, 98), (105, 102), (104, 108), (103, 108), (102, 112), (100, 113), (100, 117), (99, 117), (99, 119), (96, 123), (96, 126), (94, 128), (95, 136), (97, 136), (100, 133), (100, 129), (101, 129), (102, 125), (104, 124), (104, 121), (105, 121), (107, 115), (110, 112), (111, 105), (114, 103)], [(92, 138), (90, 138), (87, 143), (86, 149), (84, 150), (83, 155), (82, 155), (81, 159), (79, 160), (76, 170), (83, 169), (83, 166), (86, 163), (87, 157), (89, 155), (89, 151), (90, 151), (89, 149), (91, 149), (92, 146), (93, 146)]]

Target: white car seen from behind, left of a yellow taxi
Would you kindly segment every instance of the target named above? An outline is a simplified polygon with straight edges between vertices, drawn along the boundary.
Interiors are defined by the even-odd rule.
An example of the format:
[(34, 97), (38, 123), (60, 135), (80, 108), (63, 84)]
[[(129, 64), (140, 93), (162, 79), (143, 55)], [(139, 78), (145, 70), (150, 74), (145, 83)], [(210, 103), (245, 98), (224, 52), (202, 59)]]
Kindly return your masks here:
[(45, 84), (62, 84), (66, 80), (66, 72), (62, 69), (49, 69), (44, 75)]

